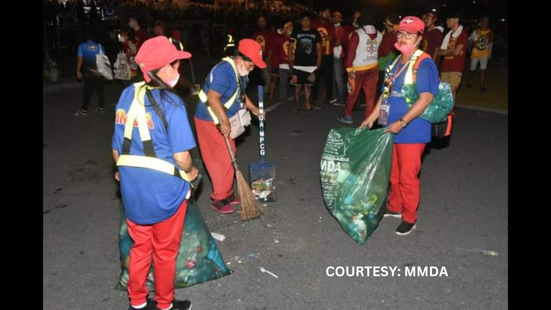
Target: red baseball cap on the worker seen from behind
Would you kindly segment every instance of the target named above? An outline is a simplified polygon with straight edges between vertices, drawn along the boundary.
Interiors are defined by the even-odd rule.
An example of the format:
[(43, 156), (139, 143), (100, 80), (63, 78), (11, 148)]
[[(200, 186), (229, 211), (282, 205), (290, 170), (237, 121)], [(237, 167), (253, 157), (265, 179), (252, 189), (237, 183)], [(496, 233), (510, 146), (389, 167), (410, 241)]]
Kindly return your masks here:
[(191, 58), (191, 54), (179, 51), (166, 36), (156, 36), (143, 42), (138, 54), (136, 63), (143, 72), (145, 82), (150, 82), (151, 78), (147, 72), (162, 68), (175, 60)]

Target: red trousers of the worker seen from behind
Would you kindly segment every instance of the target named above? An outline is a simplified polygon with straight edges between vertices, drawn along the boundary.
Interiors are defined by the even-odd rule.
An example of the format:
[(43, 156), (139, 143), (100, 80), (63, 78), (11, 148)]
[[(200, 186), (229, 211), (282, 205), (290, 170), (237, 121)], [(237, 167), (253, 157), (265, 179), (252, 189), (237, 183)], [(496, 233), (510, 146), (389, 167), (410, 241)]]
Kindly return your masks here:
[(128, 218), (128, 233), (134, 241), (130, 249), (128, 268), (128, 296), (132, 306), (147, 301), (149, 290), (145, 285), (153, 257), (155, 279), (155, 300), (157, 307), (166, 309), (174, 300), (174, 277), (176, 257), (182, 238), (183, 222), (186, 218), (187, 200), (168, 220), (153, 225), (138, 225)]

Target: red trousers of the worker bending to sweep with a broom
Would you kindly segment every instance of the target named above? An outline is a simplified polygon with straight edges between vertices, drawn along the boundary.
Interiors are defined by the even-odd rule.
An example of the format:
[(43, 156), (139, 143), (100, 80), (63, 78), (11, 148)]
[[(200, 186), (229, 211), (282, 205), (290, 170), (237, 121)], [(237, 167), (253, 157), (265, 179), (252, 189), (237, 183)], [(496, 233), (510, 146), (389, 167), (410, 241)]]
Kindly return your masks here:
[[(199, 142), (199, 151), (212, 183), (213, 200), (223, 200), (234, 194), (234, 167), (224, 136), (214, 122), (199, 120), (195, 117), (195, 129)], [(235, 154), (235, 142), (229, 138)]]

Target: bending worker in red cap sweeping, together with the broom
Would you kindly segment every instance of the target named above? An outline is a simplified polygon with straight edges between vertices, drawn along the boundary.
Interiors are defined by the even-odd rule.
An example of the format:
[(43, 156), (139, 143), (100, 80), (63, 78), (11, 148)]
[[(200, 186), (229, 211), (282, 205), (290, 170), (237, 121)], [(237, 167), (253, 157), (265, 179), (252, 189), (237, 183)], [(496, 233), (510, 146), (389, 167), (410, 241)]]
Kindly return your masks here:
[[(245, 93), (247, 76), (255, 66), (266, 68), (260, 44), (252, 39), (239, 41), (236, 55), (223, 58), (210, 70), (199, 92), (195, 112), (199, 149), (213, 187), (212, 209), (232, 213), (235, 212), (232, 206), (241, 201), (242, 220), (260, 215), (253, 212), (245, 216), (243, 213), (244, 204), (245, 209), (251, 206), (257, 209), (258, 204), (254, 199), (247, 199), (252, 193), (237, 169), (234, 156), (234, 138), (250, 124), (249, 110), (260, 116), (260, 110)], [(239, 200), (233, 191), (234, 173), (241, 194)]]

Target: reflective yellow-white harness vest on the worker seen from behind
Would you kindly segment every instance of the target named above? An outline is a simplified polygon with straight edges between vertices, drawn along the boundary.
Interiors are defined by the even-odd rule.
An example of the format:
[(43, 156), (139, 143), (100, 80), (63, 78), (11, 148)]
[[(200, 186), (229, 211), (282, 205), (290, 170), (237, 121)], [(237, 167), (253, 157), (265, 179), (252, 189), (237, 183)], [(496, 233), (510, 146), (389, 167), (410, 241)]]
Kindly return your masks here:
[[(150, 89), (153, 88), (145, 85), (145, 82), (134, 84), (134, 100), (132, 101), (130, 109), (128, 110), (125, 124), (125, 140), (122, 143), (122, 154), (120, 157), (118, 157), (117, 167), (127, 166), (152, 169), (159, 172), (164, 172), (166, 174), (174, 175), (175, 177), (188, 181), (188, 183), (191, 184), (191, 181), (185, 171), (180, 170), (176, 165), (165, 161), (164, 159), (157, 158), (155, 154), (151, 135), (147, 126), (147, 119), (145, 117), (145, 95), (147, 95), (149, 101), (151, 101), (155, 113), (163, 121), (163, 125), (167, 132), (168, 122), (166, 122), (163, 111), (159, 108), (159, 105), (156, 103), (155, 98), (153, 98), (153, 94), (149, 91)], [(145, 156), (130, 154), (134, 121), (136, 121), (138, 124), (139, 136), (143, 143)]]

